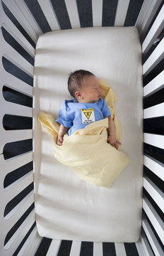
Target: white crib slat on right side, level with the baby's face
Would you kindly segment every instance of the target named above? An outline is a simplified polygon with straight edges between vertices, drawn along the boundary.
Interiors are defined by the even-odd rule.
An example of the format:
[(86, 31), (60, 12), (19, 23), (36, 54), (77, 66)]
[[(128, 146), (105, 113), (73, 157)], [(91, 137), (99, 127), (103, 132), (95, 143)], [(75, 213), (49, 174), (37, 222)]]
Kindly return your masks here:
[(164, 86), (164, 70), (144, 87), (144, 97), (150, 96)]

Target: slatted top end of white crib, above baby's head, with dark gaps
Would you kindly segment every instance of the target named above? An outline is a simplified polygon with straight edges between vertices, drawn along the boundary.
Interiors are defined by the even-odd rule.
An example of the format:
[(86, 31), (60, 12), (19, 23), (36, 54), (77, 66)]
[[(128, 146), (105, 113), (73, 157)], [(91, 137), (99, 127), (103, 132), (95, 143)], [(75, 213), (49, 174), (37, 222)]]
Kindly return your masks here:
[(135, 26), (140, 21), (140, 14), (141, 18), (144, 15), (140, 12), (145, 5), (144, 0), (15, 0), (13, 3), (3, 0), (3, 3), (4, 10), (18, 17), (17, 22), (34, 42), (41, 33), (58, 29)]

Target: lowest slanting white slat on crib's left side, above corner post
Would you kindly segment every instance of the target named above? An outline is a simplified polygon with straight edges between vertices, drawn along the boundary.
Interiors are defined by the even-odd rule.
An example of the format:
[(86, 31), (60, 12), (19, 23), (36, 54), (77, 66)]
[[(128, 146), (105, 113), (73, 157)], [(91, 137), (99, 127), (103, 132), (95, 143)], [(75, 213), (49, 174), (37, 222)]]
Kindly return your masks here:
[[(21, 226), (16, 230), (16, 233), (13, 234), (10, 240), (6, 243), (4, 246), (5, 250), (8, 250), (8, 248), (11, 247), (11, 245), (14, 244), (14, 247), (17, 248), (18, 245), (21, 243), (21, 240), (25, 237), (25, 235), (28, 233), (28, 230), (35, 222), (35, 210), (33, 210), (27, 218), (23, 221)], [(17, 246), (16, 246), (16, 245)]]

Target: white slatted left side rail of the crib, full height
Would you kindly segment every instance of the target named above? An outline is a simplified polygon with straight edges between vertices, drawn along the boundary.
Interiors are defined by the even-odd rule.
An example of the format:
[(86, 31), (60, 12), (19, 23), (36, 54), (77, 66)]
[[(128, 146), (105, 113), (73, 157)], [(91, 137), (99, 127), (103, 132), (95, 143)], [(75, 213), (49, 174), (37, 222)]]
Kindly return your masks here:
[[(37, 35), (34, 33), (32, 27), (28, 24), (28, 21), (21, 15), (18, 6), (13, 1), (6, 1), (6, 6), (18, 16), (27, 32), (29, 32), (33, 41), (37, 41)], [(17, 7), (17, 9), (16, 9)], [(34, 58), (35, 49), (23, 34), (16, 28), (11, 20), (4, 14), (4, 11), (0, 2), (1, 13), (1, 27), (4, 28), (15, 40), (23, 46), (23, 48)], [(25, 22), (25, 23), (23, 23)], [(10, 60), (11, 63), (23, 70), (25, 73), (33, 78), (33, 65), (23, 56), (12, 48), (4, 40), (4, 36), (1, 33), (1, 58), (4, 57)], [(6, 55), (7, 53), (7, 55)], [(1, 237), (0, 237), (0, 254), (5, 255), (26, 255), (30, 248), (33, 248), (33, 253), (37, 250), (40, 244), (40, 236), (37, 233), (35, 226), (35, 211), (33, 209), (34, 193), (33, 193), (33, 170), (29, 171), (18, 178), (16, 181), (11, 182), (7, 187), (4, 187), (4, 180), (8, 174), (12, 174), (16, 169), (21, 166), (25, 166), (30, 161), (33, 161), (33, 152), (25, 153), (23, 155), (15, 156), (13, 159), (4, 160), (3, 149), (6, 143), (15, 142), (24, 139), (31, 139), (33, 137), (32, 130), (15, 130), (8, 131), (2, 126), (4, 114), (12, 114), (23, 117), (33, 117), (33, 109), (31, 107), (25, 107), (13, 102), (4, 100), (2, 89), (4, 86), (10, 87), (13, 90), (33, 96), (33, 87), (28, 85), (23, 80), (16, 78), (14, 75), (8, 73), (0, 63), (1, 68), (1, 92), (0, 92), (0, 120), (1, 120), (1, 139), (0, 139), (0, 166), (1, 166), (1, 178), (0, 178), (0, 193), (1, 193), (1, 208), (0, 208), (0, 225), (1, 225)], [(28, 189), (29, 188), (29, 189)], [(28, 191), (23, 194), (23, 189)], [(20, 193), (21, 199), (18, 199)], [(11, 207), (11, 201), (13, 206)], [(29, 208), (33, 209), (32, 211)], [(7, 210), (7, 211), (6, 211)], [(22, 220), (21, 220), (22, 219)], [(20, 221), (21, 220), (21, 221)], [(25, 240), (26, 237), (26, 240)], [(33, 240), (35, 238), (35, 240)], [(7, 240), (6, 240), (7, 239)], [(22, 246), (20, 247), (22, 242)], [(18, 248), (19, 252), (18, 251)]]

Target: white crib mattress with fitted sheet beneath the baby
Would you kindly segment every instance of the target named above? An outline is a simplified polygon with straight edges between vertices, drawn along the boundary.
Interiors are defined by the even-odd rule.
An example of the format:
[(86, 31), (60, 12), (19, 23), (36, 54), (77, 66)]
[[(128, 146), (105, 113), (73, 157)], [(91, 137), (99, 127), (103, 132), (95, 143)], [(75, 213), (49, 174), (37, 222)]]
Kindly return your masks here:
[[(117, 95), (122, 124), (120, 150), (130, 164), (111, 188), (81, 180), (53, 155), (50, 137), (37, 121), (39, 112), (58, 116), (71, 99), (70, 72), (90, 70)], [(141, 230), (142, 66), (136, 28), (76, 28), (45, 33), (37, 41), (34, 83), (34, 171), (37, 229), (64, 240), (134, 242)], [(103, 163), (102, 163), (103, 164)]]

